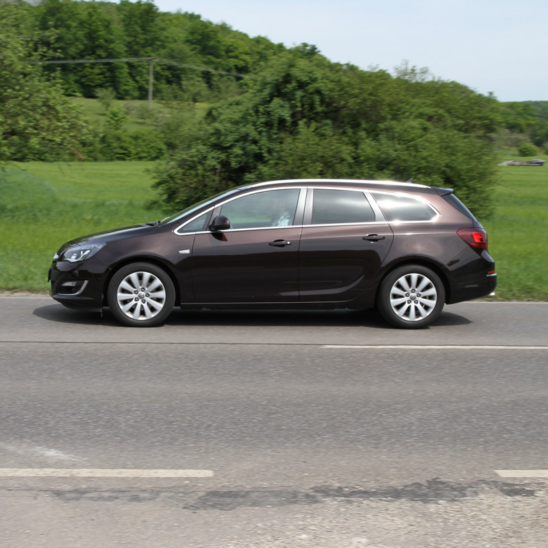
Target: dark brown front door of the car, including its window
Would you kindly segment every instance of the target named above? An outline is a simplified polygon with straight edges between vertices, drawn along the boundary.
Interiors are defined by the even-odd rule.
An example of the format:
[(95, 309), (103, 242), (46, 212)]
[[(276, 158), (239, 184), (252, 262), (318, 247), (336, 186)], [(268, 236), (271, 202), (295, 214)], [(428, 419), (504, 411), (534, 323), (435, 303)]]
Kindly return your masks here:
[(196, 235), (192, 280), (197, 303), (299, 300), (300, 196), (300, 188), (259, 190), (216, 208), (214, 215), (226, 216), (230, 229)]

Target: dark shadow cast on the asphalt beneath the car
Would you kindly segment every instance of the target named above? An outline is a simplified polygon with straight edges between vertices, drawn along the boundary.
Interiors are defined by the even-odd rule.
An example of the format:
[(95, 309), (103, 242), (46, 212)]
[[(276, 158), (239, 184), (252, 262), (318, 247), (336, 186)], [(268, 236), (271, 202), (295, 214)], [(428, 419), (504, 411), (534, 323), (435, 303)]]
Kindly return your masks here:
[[(120, 329), (138, 329), (125, 327), (114, 319), (108, 308), (99, 312), (69, 310), (62, 305), (51, 304), (40, 306), (33, 311), (38, 318), (58, 323), (75, 325), (101, 325), (102, 327), (119, 327)], [(442, 312), (432, 324), (432, 329), (449, 325), (468, 325), (471, 320)], [(371, 329), (390, 329), (376, 310), (179, 310), (175, 308), (163, 325), (181, 325), (194, 327), (217, 326), (272, 326), (272, 327), (369, 327)]]

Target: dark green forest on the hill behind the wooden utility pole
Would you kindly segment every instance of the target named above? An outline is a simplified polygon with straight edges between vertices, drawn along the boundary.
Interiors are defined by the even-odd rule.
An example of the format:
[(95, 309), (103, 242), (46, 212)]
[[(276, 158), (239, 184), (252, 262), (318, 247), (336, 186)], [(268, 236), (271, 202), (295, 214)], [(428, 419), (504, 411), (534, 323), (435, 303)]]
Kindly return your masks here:
[[(158, 57), (247, 75), (285, 49), (266, 38), (250, 38), (228, 25), (204, 21), (198, 14), (160, 12), (149, 1), (46, 0), (31, 5), (18, 0), (17, 10), (25, 33), (36, 36), (48, 60)], [(58, 73), (66, 95), (95, 97), (98, 88), (110, 88), (118, 99), (147, 97), (146, 63), (63, 64), (45, 71)], [(154, 79), (160, 99), (217, 99), (227, 86), (227, 79), (214, 73), (160, 64)], [(231, 82), (237, 88), (238, 79)]]

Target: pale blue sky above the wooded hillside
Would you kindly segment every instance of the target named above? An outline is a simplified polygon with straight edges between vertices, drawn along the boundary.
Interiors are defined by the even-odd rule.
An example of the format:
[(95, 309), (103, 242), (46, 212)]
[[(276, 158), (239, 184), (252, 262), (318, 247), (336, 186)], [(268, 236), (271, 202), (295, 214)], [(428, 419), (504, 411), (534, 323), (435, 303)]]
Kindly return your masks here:
[(548, 0), (154, 0), (329, 60), (426, 66), (500, 101), (548, 101)]

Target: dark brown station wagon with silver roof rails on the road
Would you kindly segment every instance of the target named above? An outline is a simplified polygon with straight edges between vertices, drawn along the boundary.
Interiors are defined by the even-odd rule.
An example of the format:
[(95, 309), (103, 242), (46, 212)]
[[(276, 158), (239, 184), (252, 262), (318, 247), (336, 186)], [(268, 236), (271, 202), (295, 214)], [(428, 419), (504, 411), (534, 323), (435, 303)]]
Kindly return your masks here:
[(497, 285), (487, 234), (451, 189), (300, 179), (241, 186), (55, 253), (51, 297), (121, 323), (190, 308), (378, 308), (416, 329)]

